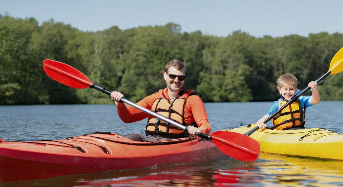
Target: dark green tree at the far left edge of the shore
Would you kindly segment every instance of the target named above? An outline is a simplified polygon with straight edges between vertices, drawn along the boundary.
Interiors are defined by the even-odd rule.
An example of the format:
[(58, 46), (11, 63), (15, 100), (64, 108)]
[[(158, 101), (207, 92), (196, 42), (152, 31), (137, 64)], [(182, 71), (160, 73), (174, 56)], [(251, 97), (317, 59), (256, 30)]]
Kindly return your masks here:
[(29, 48), (31, 35), (38, 29), (34, 18), (26, 20), (1, 16), (0, 74), (1, 104), (36, 104), (45, 101), (39, 90), (39, 64)]

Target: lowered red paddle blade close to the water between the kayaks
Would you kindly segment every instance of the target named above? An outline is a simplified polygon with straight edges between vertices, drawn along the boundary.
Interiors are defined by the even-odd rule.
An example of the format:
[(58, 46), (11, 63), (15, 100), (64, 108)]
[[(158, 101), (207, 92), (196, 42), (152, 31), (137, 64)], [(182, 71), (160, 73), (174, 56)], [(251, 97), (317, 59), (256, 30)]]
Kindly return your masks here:
[(216, 131), (211, 134), (212, 142), (225, 154), (234, 159), (253, 162), (260, 155), (260, 144), (249, 136), (236, 132)]

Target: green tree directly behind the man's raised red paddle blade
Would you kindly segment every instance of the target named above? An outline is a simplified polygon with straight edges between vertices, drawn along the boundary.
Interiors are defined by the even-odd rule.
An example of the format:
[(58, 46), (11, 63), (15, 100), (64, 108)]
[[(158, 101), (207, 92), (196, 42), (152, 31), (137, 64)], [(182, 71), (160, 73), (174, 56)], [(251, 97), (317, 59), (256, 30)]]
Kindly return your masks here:
[(63, 103), (80, 103), (75, 89), (62, 85), (49, 78), (43, 71), (42, 62), (44, 59), (57, 60), (74, 66), (73, 61), (67, 57), (64, 50), (68, 39), (73, 37), (76, 29), (70, 25), (55, 23), (54, 20), (44, 22), (37, 31), (32, 34), (30, 48), (35, 56), (36, 65), (39, 65), (41, 73), (42, 92), (46, 92), (48, 100), (46, 103), (63, 104)]

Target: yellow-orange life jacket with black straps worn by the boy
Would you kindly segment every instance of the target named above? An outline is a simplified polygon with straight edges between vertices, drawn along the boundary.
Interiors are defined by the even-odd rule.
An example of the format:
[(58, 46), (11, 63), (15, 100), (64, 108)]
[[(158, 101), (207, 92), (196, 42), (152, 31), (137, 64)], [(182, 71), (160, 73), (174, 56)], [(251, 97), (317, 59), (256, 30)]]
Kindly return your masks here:
[[(287, 101), (279, 101), (279, 108), (285, 105)], [(286, 108), (281, 110), (281, 113), (277, 114), (273, 118), (273, 124), (275, 130), (285, 130), (293, 127), (304, 127), (305, 123), (305, 110), (301, 107), (301, 103), (295, 100)]]

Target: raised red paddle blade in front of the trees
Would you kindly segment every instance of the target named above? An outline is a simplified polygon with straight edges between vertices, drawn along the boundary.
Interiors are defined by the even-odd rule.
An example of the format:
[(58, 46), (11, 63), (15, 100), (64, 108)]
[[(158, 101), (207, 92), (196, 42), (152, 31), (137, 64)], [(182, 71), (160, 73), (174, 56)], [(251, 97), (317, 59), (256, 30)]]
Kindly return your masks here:
[(93, 84), (81, 71), (59, 61), (46, 59), (43, 69), (51, 79), (70, 87), (82, 89)]

